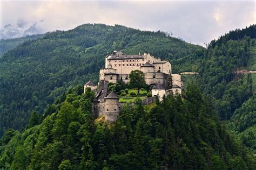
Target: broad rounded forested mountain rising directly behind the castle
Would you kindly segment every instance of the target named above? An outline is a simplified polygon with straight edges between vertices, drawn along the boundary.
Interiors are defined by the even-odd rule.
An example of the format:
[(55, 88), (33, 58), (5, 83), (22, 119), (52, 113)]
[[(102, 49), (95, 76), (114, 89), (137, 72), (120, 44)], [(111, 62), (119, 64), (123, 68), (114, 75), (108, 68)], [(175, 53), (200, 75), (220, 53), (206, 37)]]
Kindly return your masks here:
[(205, 50), (165, 32), (103, 24), (25, 41), (0, 59), (0, 136), (9, 128), (23, 129), (31, 112), (42, 114), (68, 87), (90, 79), (97, 83), (104, 56), (117, 48), (126, 54), (160, 56), (172, 62), (174, 73), (196, 70)]

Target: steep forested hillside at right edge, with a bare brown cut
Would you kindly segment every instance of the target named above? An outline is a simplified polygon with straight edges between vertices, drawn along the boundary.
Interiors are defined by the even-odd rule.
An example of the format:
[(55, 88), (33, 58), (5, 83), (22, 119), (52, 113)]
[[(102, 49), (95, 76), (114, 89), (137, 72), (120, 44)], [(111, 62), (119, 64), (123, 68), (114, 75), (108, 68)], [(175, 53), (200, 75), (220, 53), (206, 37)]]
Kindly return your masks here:
[(235, 74), (237, 69), (256, 70), (256, 25), (231, 31), (213, 40), (201, 61), (197, 80), (222, 120), (244, 146), (256, 153), (256, 74)]

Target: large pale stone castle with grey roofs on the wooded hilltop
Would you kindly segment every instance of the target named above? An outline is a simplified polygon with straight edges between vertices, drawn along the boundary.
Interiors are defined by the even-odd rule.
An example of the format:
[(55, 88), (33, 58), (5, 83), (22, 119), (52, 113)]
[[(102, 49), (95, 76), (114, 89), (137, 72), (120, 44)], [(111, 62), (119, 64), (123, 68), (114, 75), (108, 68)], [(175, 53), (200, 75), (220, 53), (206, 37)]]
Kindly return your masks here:
[[(144, 53), (137, 55), (126, 55), (120, 50), (114, 51), (105, 57), (105, 68), (99, 70), (98, 86), (89, 81), (84, 85), (84, 90), (90, 87), (96, 91), (96, 100), (92, 111), (96, 117), (105, 116), (106, 121), (114, 122), (122, 110), (119, 97), (111, 91), (107, 91), (110, 82), (118, 83), (130, 81), (129, 74), (132, 70), (140, 70), (145, 75), (146, 84), (152, 86), (152, 97), (143, 102), (150, 104), (155, 101), (155, 96), (162, 98), (172, 90), (174, 94), (181, 94), (184, 82), (179, 74), (172, 74), (172, 89), (168, 88), (168, 77), (172, 73), (172, 65), (169, 61), (161, 61), (160, 58)], [(109, 94), (109, 95), (107, 95)]]

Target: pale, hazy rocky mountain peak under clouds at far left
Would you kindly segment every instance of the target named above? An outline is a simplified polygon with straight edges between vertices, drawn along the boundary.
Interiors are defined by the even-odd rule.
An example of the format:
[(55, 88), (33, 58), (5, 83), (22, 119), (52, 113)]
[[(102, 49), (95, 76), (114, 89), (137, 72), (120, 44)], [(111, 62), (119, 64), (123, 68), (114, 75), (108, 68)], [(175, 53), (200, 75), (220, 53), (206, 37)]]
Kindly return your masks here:
[(38, 27), (38, 23), (42, 22), (43, 20), (40, 22), (28, 24), (23, 20), (18, 20), (16, 25), (5, 25), (3, 30), (0, 30), (0, 39), (21, 38), (34, 34), (41, 34), (43, 32), (41, 28)]

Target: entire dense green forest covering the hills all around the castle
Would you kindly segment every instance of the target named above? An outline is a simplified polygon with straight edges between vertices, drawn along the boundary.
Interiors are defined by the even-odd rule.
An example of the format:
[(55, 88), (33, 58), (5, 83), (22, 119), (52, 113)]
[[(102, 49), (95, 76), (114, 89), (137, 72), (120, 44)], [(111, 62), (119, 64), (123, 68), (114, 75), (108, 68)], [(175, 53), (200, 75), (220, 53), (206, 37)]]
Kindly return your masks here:
[[(256, 25), (230, 31), (207, 49), (103, 24), (25, 41), (0, 59), (0, 168), (255, 169), (256, 75), (236, 72), (255, 68), (255, 32)], [(109, 124), (92, 117), (95, 94), (78, 84), (96, 83), (117, 48), (199, 74), (186, 79), (182, 99), (148, 107), (138, 100)]]

